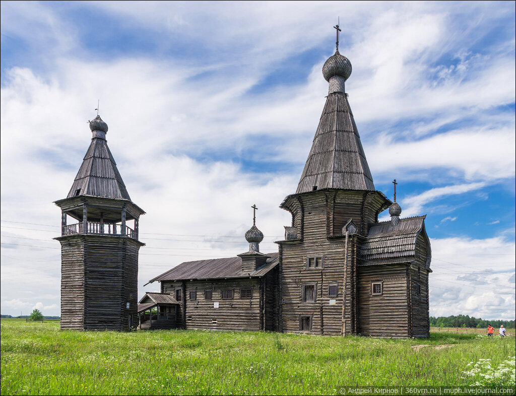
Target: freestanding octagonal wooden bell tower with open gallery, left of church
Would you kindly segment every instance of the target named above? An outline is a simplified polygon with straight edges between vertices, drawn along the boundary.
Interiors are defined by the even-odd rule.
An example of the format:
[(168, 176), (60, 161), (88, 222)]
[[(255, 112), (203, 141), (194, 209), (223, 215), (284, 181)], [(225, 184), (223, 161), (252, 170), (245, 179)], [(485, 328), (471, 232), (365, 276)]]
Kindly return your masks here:
[(91, 144), (61, 208), (61, 329), (128, 331), (137, 325), (139, 217), (106, 142)]

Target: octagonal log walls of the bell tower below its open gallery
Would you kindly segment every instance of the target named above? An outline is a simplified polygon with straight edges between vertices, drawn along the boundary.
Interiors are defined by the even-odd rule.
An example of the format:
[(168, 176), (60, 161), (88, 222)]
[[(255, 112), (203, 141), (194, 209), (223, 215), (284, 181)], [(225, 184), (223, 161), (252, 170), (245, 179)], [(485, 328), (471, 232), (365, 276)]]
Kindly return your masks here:
[(60, 242), (61, 316), (67, 318), (61, 327), (114, 331), (136, 327), (140, 242), (107, 235), (64, 237)]

